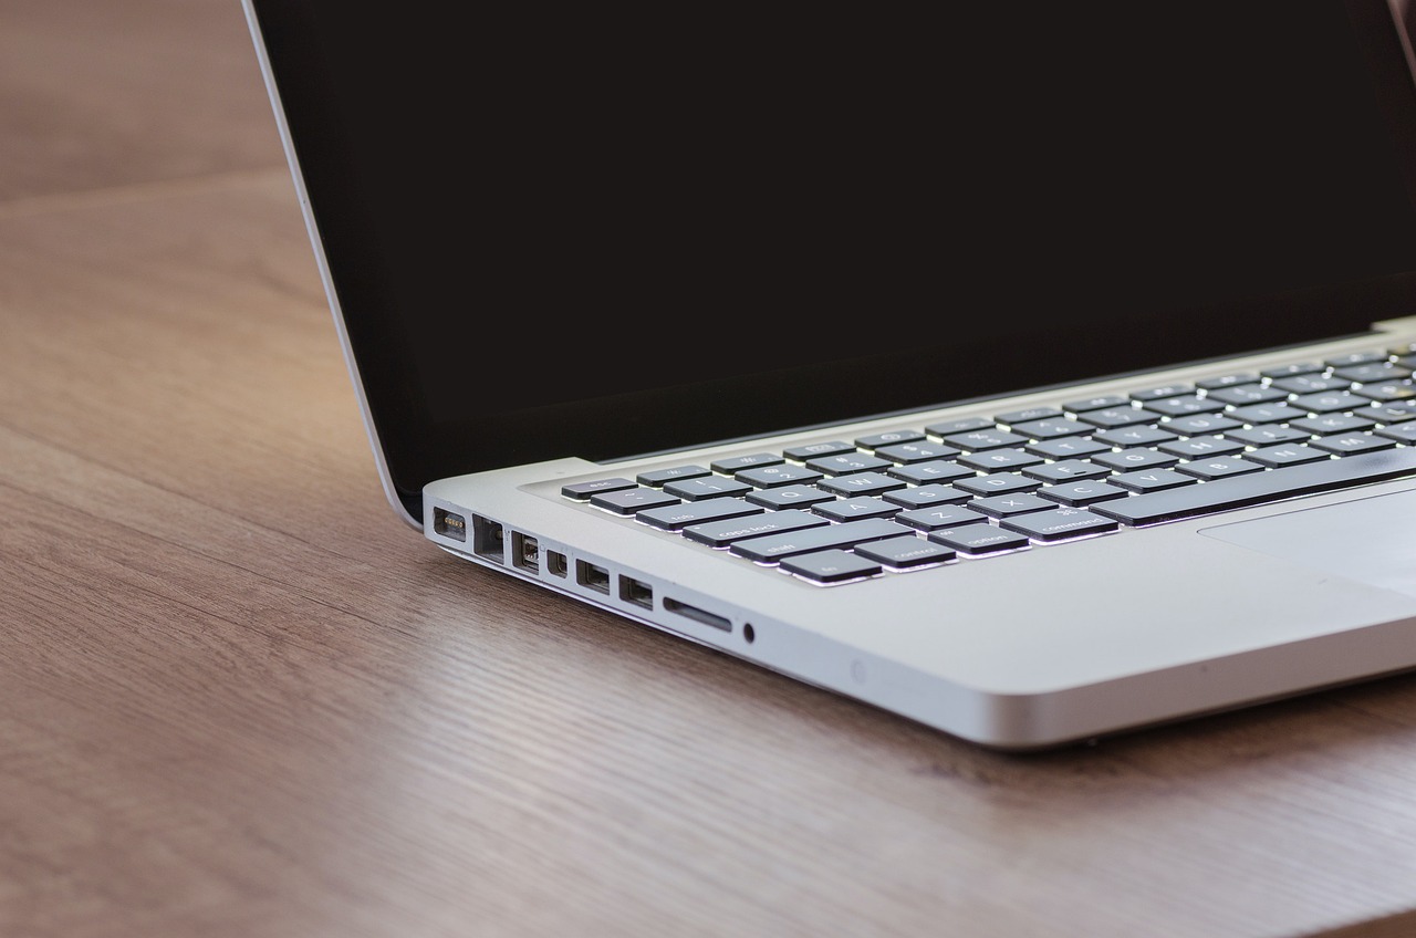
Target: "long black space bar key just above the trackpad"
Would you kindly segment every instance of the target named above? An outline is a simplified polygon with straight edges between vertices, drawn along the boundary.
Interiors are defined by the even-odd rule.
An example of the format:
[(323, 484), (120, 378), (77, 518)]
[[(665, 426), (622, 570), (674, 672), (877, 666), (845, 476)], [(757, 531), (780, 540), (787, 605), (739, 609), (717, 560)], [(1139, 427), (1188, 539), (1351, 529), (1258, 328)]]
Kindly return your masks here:
[(1400, 449), (1383, 449), (1361, 456), (1344, 456), (1301, 466), (1255, 472), (1247, 476), (1201, 482), (1168, 492), (1133, 495), (1129, 499), (1089, 506), (1089, 510), (1133, 527), (1160, 524), (1161, 521), (1243, 509), (1298, 495), (1400, 479), (1413, 472), (1416, 472), (1416, 446), (1402, 446)]

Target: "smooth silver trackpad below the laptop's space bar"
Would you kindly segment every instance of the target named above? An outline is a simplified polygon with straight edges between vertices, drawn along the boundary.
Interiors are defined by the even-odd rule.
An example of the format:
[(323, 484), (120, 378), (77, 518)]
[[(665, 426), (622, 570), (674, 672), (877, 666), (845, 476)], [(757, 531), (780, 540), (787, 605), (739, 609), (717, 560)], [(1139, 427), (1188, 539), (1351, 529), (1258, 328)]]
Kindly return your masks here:
[(1416, 597), (1416, 492), (1206, 527), (1199, 533)]

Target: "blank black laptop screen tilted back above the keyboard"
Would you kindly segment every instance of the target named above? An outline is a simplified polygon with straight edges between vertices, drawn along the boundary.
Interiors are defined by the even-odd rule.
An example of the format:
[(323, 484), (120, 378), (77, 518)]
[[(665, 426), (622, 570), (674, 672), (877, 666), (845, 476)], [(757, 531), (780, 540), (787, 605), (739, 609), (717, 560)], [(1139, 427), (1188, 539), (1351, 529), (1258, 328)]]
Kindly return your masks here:
[(1383, 0), (252, 6), (411, 504), (1413, 309)]

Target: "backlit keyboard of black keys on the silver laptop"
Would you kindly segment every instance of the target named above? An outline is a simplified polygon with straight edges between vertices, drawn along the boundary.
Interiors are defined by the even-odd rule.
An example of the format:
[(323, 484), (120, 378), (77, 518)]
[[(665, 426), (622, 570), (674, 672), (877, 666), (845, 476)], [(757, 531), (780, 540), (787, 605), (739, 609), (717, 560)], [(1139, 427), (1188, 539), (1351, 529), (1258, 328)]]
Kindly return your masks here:
[(1416, 343), (561, 489), (820, 585), (1416, 473)]

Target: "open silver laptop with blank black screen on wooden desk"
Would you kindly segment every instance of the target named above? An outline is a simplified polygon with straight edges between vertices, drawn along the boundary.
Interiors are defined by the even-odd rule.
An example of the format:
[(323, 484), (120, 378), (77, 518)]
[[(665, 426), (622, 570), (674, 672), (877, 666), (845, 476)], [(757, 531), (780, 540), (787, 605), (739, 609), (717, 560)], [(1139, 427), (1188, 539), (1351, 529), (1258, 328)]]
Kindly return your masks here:
[(396, 517), (998, 750), (1416, 667), (1391, 9), (967, 6), (245, 0)]

